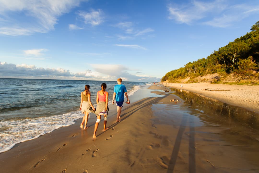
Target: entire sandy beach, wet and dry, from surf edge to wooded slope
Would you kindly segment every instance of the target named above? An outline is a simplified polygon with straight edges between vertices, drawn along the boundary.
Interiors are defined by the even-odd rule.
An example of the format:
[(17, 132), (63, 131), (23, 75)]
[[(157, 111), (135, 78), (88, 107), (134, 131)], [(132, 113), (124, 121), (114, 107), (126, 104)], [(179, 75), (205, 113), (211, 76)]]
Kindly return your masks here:
[[(109, 129), (102, 130), (102, 117), (95, 141), (92, 135), (96, 117), (91, 114), (90, 127), (86, 130), (80, 129), (80, 118), (75, 124), (0, 153), (1, 170), (37, 173), (258, 172), (258, 86), (251, 86), (252, 95), (238, 95), (241, 89), (230, 89), (233, 86), (201, 85), (199, 88), (199, 84), (183, 84), (182, 89), (202, 96), (180, 91), (180, 84), (142, 88), (129, 98), (130, 105), (123, 105), (121, 122), (116, 123), (117, 107), (109, 105)], [(169, 86), (179, 89), (174, 91)], [(245, 93), (248, 89), (241, 91)], [(231, 95), (231, 92), (234, 93)], [(247, 100), (250, 106), (233, 101), (240, 96), (243, 97), (240, 102)], [(172, 99), (175, 101), (170, 102)], [(205, 108), (201, 101), (206, 101), (208, 106)], [(232, 108), (225, 103), (246, 109)], [(215, 115), (220, 112), (219, 107), (224, 112), (220, 117)], [(251, 118), (236, 120), (232, 110), (248, 114), (257, 125), (242, 124), (243, 120)]]

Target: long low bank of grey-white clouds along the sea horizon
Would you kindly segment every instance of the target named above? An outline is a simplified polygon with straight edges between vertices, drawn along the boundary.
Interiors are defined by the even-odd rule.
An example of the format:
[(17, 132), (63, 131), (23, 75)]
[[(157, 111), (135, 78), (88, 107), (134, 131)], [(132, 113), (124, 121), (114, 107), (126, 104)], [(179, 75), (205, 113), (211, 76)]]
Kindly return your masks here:
[[(113, 80), (122, 78), (127, 81), (160, 81), (155, 77), (144, 77), (132, 75), (123, 65), (90, 64), (95, 71), (85, 70), (84, 72), (72, 73), (63, 68), (42, 68), (34, 65), (15, 65), (0, 62), (0, 77), (15, 78), (43, 78), (43, 79), (84, 79), (84, 80)], [(105, 70), (104, 67), (105, 66)], [(145, 78), (145, 79), (144, 79)]]

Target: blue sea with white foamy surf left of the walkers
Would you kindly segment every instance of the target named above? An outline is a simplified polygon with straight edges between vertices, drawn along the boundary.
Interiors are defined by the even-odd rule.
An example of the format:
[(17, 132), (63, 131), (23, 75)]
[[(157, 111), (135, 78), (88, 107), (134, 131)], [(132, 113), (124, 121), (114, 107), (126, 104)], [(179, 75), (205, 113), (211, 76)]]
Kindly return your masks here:
[[(111, 104), (117, 81), (5, 79), (0, 78), (0, 153), (15, 144), (35, 139), (53, 130), (69, 126), (83, 117), (79, 110), (86, 84), (90, 85), (91, 102), (106, 83)], [(152, 82), (122, 82), (128, 95)]]

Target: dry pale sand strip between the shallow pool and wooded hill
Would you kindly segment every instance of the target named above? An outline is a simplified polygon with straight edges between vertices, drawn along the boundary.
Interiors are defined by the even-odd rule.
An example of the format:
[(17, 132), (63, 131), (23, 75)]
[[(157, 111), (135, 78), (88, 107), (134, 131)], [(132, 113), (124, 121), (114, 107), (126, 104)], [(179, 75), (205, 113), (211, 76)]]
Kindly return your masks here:
[[(209, 98), (240, 106), (259, 113), (259, 86), (258, 85), (226, 85), (199, 82), (193, 84), (164, 83), (164, 85), (191, 91)], [(183, 87), (181, 88), (182, 85)]]

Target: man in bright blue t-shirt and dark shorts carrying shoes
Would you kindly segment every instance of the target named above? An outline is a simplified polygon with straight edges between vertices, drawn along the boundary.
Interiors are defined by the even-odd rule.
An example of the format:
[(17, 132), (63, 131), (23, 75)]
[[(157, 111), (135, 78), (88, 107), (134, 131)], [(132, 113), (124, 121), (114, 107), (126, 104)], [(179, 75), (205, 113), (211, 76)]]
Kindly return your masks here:
[(120, 113), (121, 113), (121, 108), (123, 107), (123, 102), (124, 102), (124, 94), (127, 98), (126, 103), (130, 104), (130, 100), (128, 98), (128, 94), (127, 94), (127, 89), (125, 87), (125, 85), (121, 84), (122, 79), (119, 78), (117, 79), (117, 83), (118, 85), (114, 86), (114, 90), (113, 90), (113, 97), (112, 97), (112, 104), (114, 105), (114, 98), (116, 101), (116, 105), (117, 105), (117, 119), (116, 122), (120, 122)]

